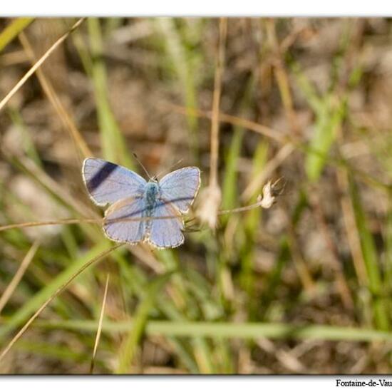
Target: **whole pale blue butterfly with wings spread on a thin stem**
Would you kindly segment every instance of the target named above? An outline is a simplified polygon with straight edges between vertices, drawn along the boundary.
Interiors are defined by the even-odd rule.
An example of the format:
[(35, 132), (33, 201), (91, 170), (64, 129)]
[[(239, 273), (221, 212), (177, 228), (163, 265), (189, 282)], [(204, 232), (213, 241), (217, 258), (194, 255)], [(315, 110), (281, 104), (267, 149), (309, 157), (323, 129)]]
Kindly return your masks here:
[[(200, 187), (198, 167), (183, 167), (147, 182), (126, 167), (86, 158), (83, 181), (96, 205), (105, 211), (103, 232), (115, 242), (148, 242), (174, 248), (184, 242), (182, 214), (190, 209)], [(127, 220), (128, 219), (128, 220)]]

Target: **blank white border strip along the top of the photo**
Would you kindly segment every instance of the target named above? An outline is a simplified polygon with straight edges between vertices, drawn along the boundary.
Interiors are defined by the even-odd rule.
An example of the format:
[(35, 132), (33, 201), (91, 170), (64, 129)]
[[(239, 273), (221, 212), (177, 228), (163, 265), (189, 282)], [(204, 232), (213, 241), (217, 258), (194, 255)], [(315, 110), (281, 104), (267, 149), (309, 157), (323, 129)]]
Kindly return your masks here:
[(392, 16), (392, 2), (225, 1), (1, 1), (0, 16)]

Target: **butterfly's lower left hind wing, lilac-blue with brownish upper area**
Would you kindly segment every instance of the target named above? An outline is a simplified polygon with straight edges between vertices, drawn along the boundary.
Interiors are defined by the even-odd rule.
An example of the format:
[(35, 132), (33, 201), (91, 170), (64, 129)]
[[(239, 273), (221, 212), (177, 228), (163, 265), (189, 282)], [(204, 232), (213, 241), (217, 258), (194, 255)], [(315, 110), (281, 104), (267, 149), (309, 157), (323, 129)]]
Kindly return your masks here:
[(135, 244), (145, 237), (145, 200), (128, 197), (111, 205), (105, 212), (103, 231), (116, 242)]

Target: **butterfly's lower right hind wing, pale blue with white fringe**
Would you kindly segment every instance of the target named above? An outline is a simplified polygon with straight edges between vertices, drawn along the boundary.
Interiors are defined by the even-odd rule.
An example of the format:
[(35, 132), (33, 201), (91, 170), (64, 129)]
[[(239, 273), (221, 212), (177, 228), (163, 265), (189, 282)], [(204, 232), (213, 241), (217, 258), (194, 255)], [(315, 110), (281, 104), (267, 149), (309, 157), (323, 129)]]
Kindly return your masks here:
[[(160, 217), (172, 217), (159, 219)], [(148, 229), (148, 242), (158, 248), (175, 248), (184, 242), (184, 223), (172, 203), (158, 201), (153, 212), (153, 220)], [(158, 218), (158, 219), (157, 219)]]

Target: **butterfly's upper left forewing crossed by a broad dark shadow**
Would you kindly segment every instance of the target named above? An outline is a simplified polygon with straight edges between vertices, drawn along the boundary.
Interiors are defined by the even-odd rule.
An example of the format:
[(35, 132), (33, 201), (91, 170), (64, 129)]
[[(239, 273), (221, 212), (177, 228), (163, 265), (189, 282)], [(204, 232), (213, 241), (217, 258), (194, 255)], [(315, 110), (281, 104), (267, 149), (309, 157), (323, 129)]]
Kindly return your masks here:
[(125, 199), (141, 197), (147, 182), (127, 168), (98, 158), (83, 162), (83, 180), (97, 205), (106, 205)]

